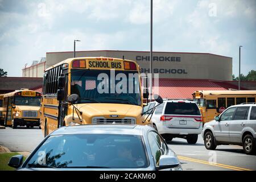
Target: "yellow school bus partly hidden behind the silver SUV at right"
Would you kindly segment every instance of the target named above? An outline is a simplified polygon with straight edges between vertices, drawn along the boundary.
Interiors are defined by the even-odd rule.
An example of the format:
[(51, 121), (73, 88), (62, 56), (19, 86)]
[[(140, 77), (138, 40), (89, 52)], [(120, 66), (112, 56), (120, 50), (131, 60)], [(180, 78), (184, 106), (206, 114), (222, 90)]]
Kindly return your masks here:
[(256, 90), (197, 90), (192, 93), (203, 122), (209, 122), (232, 105), (255, 102)]

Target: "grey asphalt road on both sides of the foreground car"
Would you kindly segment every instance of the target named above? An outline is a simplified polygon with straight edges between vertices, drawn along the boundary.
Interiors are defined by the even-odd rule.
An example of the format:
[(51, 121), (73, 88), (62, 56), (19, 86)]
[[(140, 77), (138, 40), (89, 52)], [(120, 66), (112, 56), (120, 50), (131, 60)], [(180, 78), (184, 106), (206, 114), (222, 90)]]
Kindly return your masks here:
[[(42, 130), (38, 127), (7, 127), (0, 130), (0, 145), (11, 151), (31, 152), (43, 138)], [(188, 144), (185, 139), (174, 138), (168, 145), (176, 152), (185, 171), (256, 170), (256, 156), (243, 154), (241, 146), (217, 146), (214, 151), (206, 150), (201, 135), (196, 144)]]

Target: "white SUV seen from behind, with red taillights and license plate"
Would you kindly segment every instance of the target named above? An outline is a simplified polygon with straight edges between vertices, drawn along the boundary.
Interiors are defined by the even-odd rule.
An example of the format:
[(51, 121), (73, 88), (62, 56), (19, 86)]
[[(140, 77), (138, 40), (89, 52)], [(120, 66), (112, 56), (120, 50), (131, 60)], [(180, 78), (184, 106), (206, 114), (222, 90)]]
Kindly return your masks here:
[[(150, 114), (150, 109), (158, 105), (150, 102), (143, 108)], [(197, 142), (203, 129), (203, 118), (196, 103), (190, 100), (164, 100), (152, 114), (151, 122), (160, 135), (166, 140), (172, 138), (187, 139), (189, 144)]]

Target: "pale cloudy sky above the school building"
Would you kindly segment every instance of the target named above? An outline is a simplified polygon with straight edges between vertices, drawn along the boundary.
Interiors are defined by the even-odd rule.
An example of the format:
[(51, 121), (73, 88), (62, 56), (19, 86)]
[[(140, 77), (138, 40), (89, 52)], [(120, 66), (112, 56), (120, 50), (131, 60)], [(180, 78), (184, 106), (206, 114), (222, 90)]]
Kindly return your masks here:
[[(233, 57), (256, 70), (255, 0), (154, 0), (154, 51)], [(46, 52), (150, 50), (150, 0), (0, 0), (0, 68), (22, 76)], [(221, 66), (221, 65), (220, 65)]]

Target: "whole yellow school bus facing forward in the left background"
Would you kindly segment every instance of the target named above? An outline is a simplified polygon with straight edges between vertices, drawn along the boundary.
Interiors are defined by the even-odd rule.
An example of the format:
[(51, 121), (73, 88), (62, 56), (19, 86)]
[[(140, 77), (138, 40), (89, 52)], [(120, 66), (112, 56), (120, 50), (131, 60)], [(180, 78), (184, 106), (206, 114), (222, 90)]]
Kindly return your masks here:
[(5, 125), (15, 129), (17, 126), (40, 126), (41, 93), (20, 89), (3, 95), (6, 110)]

